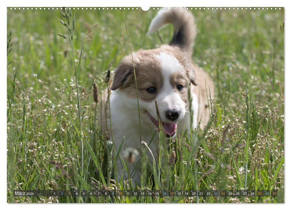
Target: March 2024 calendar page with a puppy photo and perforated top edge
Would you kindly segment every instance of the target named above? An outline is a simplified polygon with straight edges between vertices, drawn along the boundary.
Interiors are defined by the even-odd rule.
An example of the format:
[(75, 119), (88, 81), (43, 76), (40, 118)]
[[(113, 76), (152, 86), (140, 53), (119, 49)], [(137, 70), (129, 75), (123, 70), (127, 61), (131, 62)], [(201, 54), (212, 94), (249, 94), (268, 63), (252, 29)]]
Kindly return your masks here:
[(284, 203), (284, 7), (8, 6), (6, 66), (7, 203)]

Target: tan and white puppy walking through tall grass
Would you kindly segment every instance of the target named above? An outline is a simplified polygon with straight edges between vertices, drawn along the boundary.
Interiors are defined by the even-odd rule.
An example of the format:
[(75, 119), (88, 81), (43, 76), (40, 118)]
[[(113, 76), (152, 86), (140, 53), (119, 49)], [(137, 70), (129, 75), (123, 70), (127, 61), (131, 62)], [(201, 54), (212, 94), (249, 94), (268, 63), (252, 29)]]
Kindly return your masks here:
[[(202, 69), (191, 62), (196, 36), (194, 17), (187, 10), (161, 10), (152, 20), (148, 33), (167, 23), (174, 25), (174, 36), (169, 45), (132, 52), (114, 71), (109, 101), (102, 105), (105, 107), (102, 133), (108, 131), (115, 145), (115, 154), (124, 137), (122, 151), (138, 149), (140, 142), (144, 141), (156, 157), (159, 132), (163, 132), (165, 139), (174, 138), (183, 130), (190, 131), (190, 125), (191, 129), (196, 128), (199, 122), (203, 129), (209, 120), (208, 104), (211, 103), (209, 95), (214, 95), (213, 83)], [(106, 101), (104, 96), (103, 101)], [(193, 122), (190, 122), (190, 113), (193, 113)], [(162, 130), (154, 135), (159, 118)], [(132, 179), (133, 184), (139, 183), (139, 155), (136, 158), (133, 158), (133, 152), (128, 155), (130, 158), (117, 157), (115, 179)]]

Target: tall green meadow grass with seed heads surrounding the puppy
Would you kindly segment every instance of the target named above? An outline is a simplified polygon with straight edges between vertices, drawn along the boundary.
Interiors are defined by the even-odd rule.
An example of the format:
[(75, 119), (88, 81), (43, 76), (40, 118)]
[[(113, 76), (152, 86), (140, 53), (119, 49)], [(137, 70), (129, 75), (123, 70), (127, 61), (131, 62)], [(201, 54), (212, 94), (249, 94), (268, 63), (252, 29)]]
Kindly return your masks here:
[(62, 12), (7, 8), (7, 202), (284, 202), (283, 9), (195, 11), (193, 60), (215, 82), (212, 117), (190, 139), (181, 134), (168, 144), (160, 134), (157, 171), (153, 179), (143, 173), (141, 185), (275, 189), (278, 197), (13, 197), (13, 189), (130, 189), (108, 179), (119, 160), (97, 126), (104, 107), (96, 106), (93, 83), (102, 98), (108, 66), (131, 49), (169, 43), (173, 32), (166, 26), (146, 36), (152, 9), (72, 10), (71, 32)]

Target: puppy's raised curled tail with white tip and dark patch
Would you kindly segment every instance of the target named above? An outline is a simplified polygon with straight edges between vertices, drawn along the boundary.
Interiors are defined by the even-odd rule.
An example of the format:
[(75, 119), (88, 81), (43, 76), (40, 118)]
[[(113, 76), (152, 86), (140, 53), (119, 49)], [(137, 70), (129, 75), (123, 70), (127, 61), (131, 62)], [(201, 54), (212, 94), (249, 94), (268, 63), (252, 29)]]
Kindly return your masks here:
[(196, 25), (192, 13), (187, 10), (160, 10), (150, 23), (149, 32), (157, 31), (168, 23), (174, 25), (174, 36), (170, 45), (179, 46), (190, 57), (193, 54)]

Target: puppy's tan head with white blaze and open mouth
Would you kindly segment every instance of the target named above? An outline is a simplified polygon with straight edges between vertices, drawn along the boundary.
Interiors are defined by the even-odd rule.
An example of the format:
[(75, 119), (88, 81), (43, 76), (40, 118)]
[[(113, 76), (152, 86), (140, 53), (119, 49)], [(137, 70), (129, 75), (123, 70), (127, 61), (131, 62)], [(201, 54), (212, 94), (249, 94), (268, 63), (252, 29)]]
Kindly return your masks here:
[[(134, 68), (133, 68), (134, 66)], [(158, 49), (140, 50), (123, 58), (115, 70), (111, 90), (120, 89), (132, 107), (136, 104), (136, 85), (141, 118), (159, 125), (156, 104), (164, 132), (168, 137), (176, 133), (177, 122), (183, 119), (188, 105), (188, 85), (197, 85), (194, 70), (178, 47), (164, 45)]]

